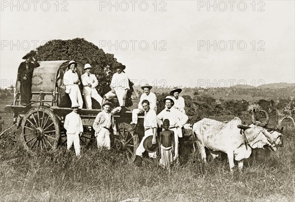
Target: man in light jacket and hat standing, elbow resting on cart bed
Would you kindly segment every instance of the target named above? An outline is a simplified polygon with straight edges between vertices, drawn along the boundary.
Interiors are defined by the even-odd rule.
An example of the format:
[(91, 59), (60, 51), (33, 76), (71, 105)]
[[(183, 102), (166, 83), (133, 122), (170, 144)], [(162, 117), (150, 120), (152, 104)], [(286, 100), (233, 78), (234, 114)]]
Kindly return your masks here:
[(102, 104), (103, 111), (97, 114), (93, 123), (98, 148), (106, 147), (110, 150), (110, 134), (111, 132), (113, 132), (114, 135), (117, 134), (114, 116), (110, 113), (112, 105), (112, 102), (105, 101)]

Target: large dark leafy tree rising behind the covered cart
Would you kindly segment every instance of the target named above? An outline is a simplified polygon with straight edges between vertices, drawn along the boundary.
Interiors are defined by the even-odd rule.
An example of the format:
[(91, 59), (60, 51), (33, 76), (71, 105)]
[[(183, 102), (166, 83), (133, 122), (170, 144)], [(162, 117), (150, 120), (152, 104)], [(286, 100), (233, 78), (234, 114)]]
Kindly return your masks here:
[[(97, 77), (98, 93), (103, 96), (111, 90), (110, 84), (112, 76), (116, 73), (113, 69), (117, 59), (114, 54), (105, 53), (94, 44), (83, 38), (72, 40), (52, 40), (37, 48), (36, 58), (38, 61), (52, 60), (77, 60), (83, 64), (89, 63), (92, 68), (92, 74)], [(126, 68), (128, 71), (128, 67)], [(130, 90), (127, 93), (126, 106), (131, 106), (131, 95), (133, 92), (133, 83), (129, 80)], [(116, 100), (118, 105), (118, 100)], [(98, 108), (99, 104), (93, 101), (93, 108)]]

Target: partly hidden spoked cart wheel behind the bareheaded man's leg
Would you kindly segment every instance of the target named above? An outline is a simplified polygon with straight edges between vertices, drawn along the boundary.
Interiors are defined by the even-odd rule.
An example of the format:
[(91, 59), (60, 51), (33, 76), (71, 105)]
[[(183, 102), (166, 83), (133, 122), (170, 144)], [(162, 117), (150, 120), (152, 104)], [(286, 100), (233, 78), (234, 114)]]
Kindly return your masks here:
[(136, 131), (132, 131), (132, 126), (127, 123), (118, 124), (118, 135), (115, 135), (115, 148), (123, 151), (129, 162), (132, 163), (136, 157), (135, 151), (139, 145)]

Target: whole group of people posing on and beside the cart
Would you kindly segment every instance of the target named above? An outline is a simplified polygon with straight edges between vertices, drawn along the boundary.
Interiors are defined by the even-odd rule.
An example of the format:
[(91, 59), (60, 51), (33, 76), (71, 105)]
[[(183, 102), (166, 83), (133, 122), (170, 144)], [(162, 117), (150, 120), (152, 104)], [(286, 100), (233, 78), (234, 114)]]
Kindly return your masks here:
[[(19, 67), (18, 79), (21, 81), (21, 100), (22, 105), (27, 105), (31, 99), (31, 77), (35, 67), (39, 64), (33, 58), (31, 53), (23, 57), (26, 62), (23, 62)], [(125, 74), (126, 68), (121, 63), (115, 64), (116, 73), (113, 75), (111, 82), (111, 91), (102, 98), (95, 87), (98, 85), (98, 80), (95, 75), (90, 73), (91, 65), (84, 66), (85, 74), (81, 76), (81, 81), (76, 72), (77, 63), (70, 61), (68, 69), (64, 73), (63, 83), (65, 85), (65, 92), (69, 95), (71, 100), (71, 108), (73, 111), (66, 115), (64, 120), (64, 128), (67, 130), (67, 149), (74, 144), (76, 155), (80, 155), (80, 136), (83, 133), (82, 120), (78, 114), (78, 109), (83, 107), (83, 99), (79, 89), (82, 82), (83, 96), (86, 102), (86, 107), (92, 109), (91, 98), (98, 101), (102, 106), (102, 111), (97, 114), (93, 123), (97, 146), (106, 147), (110, 149), (111, 141), (110, 134), (117, 134), (116, 124), (113, 114), (119, 112), (125, 107), (125, 101), (129, 88), (129, 79)], [(156, 158), (156, 144), (159, 144), (159, 153), (162, 153), (162, 166), (166, 167), (172, 164), (173, 160), (178, 157), (178, 137), (182, 137), (182, 126), (188, 121), (188, 116), (184, 111), (184, 99), (179, 96), (181, 89), (173, 89), (170, 96), (164, 99), (165, 109), (156, 115), (157, 98), (150, 90), (152, 86), (146, 84), (141, 86), (144, 93), (141, 95), (138, 108), (132, 111), (132, 125), (136, 129), (138, 125), (138, 114), (144, 113), (144, 128), (145, 136), (143, 137), (139, 147), (136, 151), (135, 163), (140, 165), (141, 157), (144, 151), (149, 151), (150, 158)], [(23, 93), (22, 93), (23, 92)], [(112, 102), (109, 100), (118, 98), (119, 105), (111, 110)], [(165, 129), (159, 134), (159, 141), (157, 142), (157, 127), (164, 127)], [(149, 140), (149, 142), (148, 142)], [(165, 152), (164, 152), (165, 151)], [(174, 157), (172, 157), (174, 153)], [(165, 154), (165, 155), (164, 155)], [(166, 158), (166, 160), (165, 160)], [(169, 160), (169, 162), (168, 162)], [(164, 163), (163, 163), (164, 162)]]

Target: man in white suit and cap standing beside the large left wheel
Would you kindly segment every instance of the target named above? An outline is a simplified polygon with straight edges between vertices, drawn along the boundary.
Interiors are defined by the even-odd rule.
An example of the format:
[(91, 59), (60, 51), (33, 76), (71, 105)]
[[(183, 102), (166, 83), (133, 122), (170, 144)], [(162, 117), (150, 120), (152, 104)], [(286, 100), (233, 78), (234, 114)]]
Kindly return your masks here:
[(79, 104), (72, 104), (73, 111), (65, 116), (63, 127), (66, 129), (66, 146), (70, 150), (74, 143), (76, 156), (80, 155), (80, 136), (83, 133), (83, 125), (78, 114)]

